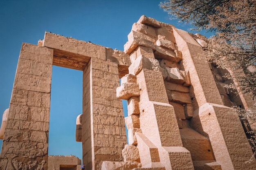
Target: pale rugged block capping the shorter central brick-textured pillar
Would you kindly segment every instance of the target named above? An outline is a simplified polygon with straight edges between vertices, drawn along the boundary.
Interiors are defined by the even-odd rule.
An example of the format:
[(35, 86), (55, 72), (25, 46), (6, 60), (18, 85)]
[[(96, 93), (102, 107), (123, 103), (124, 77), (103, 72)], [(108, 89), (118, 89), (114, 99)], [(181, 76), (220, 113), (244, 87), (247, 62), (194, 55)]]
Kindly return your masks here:
[(137, 75), (144, 68), (159, 71), (159, 67), (160, 65), (157, 60), (141, 55), (137, 57), (136, 60), (129, 66), (129, 73)]

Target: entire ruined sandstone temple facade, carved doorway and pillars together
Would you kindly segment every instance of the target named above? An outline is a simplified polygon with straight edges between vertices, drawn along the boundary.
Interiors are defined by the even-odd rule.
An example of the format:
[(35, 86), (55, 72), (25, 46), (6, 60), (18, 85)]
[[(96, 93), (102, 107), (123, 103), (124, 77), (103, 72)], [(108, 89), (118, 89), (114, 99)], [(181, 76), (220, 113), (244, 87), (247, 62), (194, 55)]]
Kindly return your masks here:
[(228, 71), (198, 57), (204, 45), (202, 35), (144, 15), (124, 51), (49, 32), (38, 45), (23, 43), (0, 130), (0, 170), (56, 162), (48, 157), (52, 65), (83, 71), (76, 141), (87, 170), (255, 170), (245, 133), (255, 122), (243, 128), (231, 108), (254, 101), (239, 86), (225, 88)]

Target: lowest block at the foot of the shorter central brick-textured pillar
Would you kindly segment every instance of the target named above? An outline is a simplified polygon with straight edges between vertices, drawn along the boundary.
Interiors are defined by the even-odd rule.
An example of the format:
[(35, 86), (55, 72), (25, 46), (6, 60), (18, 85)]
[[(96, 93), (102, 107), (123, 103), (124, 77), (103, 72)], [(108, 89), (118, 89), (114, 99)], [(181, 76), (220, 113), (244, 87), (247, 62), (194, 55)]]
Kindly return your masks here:
[(166, 170), (194, 170), (189, 150), (184, 147), (160, 147), (159, 157)]

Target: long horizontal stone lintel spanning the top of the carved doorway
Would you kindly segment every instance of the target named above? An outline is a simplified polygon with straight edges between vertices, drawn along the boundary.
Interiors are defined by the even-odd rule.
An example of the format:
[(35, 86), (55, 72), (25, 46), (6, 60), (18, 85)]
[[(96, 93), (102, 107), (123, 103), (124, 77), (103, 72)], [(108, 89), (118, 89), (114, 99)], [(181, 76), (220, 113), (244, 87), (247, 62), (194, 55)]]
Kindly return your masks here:
[(45, 32), (43, 46), (54, 50), (53, 65), (83, 71), (90, 58), (108, 60), (118, 64), (119, 77), (128, 73), (129, 55), (123, 51)]

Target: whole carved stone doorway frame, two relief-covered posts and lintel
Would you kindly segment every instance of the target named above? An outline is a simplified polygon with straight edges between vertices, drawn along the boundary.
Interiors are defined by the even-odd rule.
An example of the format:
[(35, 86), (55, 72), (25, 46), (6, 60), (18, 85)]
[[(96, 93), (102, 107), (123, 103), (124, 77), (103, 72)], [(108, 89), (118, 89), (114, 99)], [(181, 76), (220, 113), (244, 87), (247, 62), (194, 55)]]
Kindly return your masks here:
[[(77, 44), (82, 48), (77, 49)], [(116, 97), (116, 88), (128, 67), (119, 66), (120, 53), (124, 55), (48, 32), (38, 45), (23, 43), (0, 169), (47, 169), (53, 65), (83, 71), (81, 141), (86, 168), (99, 170), (103, 161), (122, 161), (121, 151), (127, 140), (123, 106)]]

